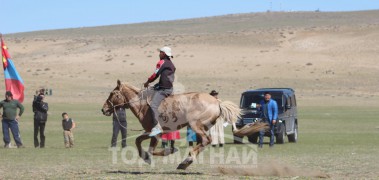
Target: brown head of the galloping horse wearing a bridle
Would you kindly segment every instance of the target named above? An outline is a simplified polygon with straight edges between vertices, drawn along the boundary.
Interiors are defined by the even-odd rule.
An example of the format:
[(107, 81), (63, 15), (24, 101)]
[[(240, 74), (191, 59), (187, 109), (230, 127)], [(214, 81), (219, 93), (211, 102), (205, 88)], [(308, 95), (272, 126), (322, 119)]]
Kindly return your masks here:
[(126, 98), (121, 92), (121, 81), (117, 80), (117, 87), (109, 94), (108, 99), (105, 101), (101, 112), (104, 115), (110, 116), (114, 112), (115, 108), (126, 106)]

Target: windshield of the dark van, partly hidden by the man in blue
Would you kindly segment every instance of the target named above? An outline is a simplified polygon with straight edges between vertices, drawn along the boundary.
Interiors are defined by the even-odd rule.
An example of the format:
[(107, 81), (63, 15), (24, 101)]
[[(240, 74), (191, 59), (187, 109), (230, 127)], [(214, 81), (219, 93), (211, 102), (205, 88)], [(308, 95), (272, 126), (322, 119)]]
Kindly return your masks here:
[[(252, 93), (245, 93), (241, 98), (241, 108), (242, 109), (257, 109), (254, 106), (255, 104), (259, 104), (263, 100), (263, 93), (264, 92), (252, 92)], [(271, 93), (271, 99), (274, 99), (276, 103), (278, 104), (279, 111), (283, 107), (283, 101), (282, 101), (283, 94), (282, 93)]]

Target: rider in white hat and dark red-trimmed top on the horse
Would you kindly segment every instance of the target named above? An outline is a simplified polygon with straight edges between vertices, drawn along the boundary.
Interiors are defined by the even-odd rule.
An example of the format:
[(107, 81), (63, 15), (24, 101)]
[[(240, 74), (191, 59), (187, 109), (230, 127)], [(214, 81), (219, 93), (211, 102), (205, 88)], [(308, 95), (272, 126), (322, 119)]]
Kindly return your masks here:
[(154, 128), (151, 130), (151, 133), (149, 134), (149, 136), (151, 137), (162, 133), (162, 128), (158, 122), (158, 107), (163, 99), (172, 94), (176, 70), (174, 64), (170, 59), (173, 58), (171, 54), (171, 48), (165, 46), (163, 48), (158, 49), (158, 51), (160, 60), (157, 64), (156, 70), (144, 84), (144, 87), (148, 87), (149, 83), (155, 81), (159, 77), (159, 82), (154, 85), (155, 93), (150, 103), (150, 107), (153, 112), (154, 125)]

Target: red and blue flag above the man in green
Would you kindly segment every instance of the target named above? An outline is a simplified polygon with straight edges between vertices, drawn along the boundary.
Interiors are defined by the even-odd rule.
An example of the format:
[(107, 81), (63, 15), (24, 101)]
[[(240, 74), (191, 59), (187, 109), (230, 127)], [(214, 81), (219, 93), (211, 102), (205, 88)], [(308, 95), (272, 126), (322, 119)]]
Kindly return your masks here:
[(1, 38), (1, 56), (4, 67), (5, 90), (12, 92), (13, 99), (17, 99), (22, 103), (24, 101), (24, 81), (18, 74), (7, 49), (3, 38)]

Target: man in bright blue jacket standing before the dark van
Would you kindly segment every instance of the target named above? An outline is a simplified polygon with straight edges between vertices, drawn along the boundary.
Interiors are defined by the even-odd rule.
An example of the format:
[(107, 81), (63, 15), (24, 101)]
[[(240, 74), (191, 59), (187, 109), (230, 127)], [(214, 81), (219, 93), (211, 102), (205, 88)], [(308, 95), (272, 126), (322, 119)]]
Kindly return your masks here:
[[(261, 118), (263, 122), (270, 125), (270, 147), (274, 146), (274, 128), (276, 120), (278, 119), (278, 104), (275, 100), (271, 99), (271, 93), (265, 92), (264, 99), (260, 102), (258, 110), (261, 112)], [(259, 144), (258, 147), (263, 147), (263, 137), (265, 135), (265, 130), (261, 129), (259, 131)]]

